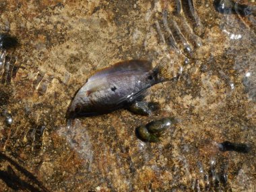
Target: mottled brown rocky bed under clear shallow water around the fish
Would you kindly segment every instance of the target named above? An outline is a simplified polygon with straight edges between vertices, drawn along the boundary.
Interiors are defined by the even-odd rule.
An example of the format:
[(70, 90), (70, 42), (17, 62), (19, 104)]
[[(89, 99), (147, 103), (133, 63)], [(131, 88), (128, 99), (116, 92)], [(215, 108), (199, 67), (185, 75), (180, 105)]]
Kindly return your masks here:
[[(0, 191), (255, 191), (255, 14), (191, 3), (0, 3), (1, 32), (20, 40), (8, 51), (17, 63), (0, 73)], [(90, 73), (127, 59), (167, 62), (181, 74), (150, 89), (160, 110), (67, 127)], [(137, 126), (163, 117), (181, 122), (160, 143), (137, 139)], [(223, 141), (251, 151), (221, 152)]]

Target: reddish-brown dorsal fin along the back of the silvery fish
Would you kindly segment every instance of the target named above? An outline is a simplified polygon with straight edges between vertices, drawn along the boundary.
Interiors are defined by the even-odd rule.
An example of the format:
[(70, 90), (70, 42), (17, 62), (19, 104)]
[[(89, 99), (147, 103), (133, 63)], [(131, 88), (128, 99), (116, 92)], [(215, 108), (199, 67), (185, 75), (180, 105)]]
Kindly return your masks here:
[(152, 70), (152, 63), (147, 60), (128, 60), (121, 61), (119, 63), (115, 63), (110, 67), (106, 67), (101, 69), (100, 71), (96, 71), (94, 75), (92, 75), (88, 81), (93, 81), (96, 78), (104, 77), (104, 75), (109, 75), (113, 73), (124, 73), (127, 71), (141, 71), (148, 72)]

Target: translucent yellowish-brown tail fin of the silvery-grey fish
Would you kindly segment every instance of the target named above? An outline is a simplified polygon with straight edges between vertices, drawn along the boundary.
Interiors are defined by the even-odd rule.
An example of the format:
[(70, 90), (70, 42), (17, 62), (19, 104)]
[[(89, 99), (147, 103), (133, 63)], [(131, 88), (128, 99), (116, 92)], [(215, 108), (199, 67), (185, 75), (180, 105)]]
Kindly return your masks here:
[(170, 65), (168, 65), (167, 62), (161, 62), (153, 69), (154, 75), (156, 75), (158, 82), (168, 82), (172, 81), (177, 77), (177, 75), (174, 75), (172, 73), (172, 70), (170, 69)]

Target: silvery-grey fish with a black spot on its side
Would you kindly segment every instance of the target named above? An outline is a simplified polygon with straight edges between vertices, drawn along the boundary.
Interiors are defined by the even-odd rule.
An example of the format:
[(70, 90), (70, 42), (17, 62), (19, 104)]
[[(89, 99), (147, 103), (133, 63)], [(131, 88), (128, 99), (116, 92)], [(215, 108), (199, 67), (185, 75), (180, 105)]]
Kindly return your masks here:
[(121, 61), (96, 71), (80, 88), (66, 117), (90, 117), (110, 113), (146, 96), (148, 88), (173, 79), (167, 63), (152, 67), (147, 60)]

